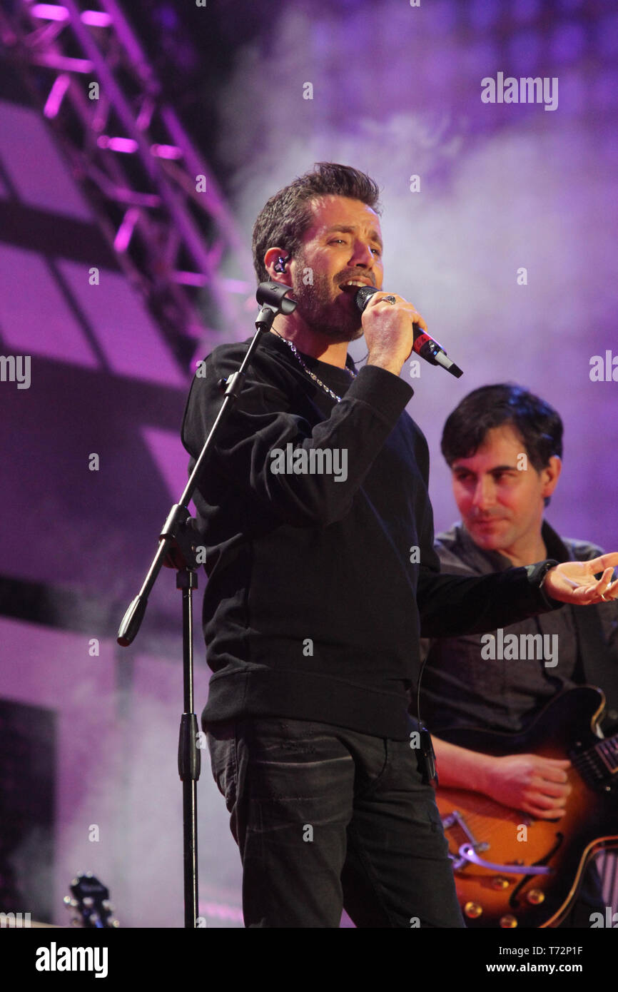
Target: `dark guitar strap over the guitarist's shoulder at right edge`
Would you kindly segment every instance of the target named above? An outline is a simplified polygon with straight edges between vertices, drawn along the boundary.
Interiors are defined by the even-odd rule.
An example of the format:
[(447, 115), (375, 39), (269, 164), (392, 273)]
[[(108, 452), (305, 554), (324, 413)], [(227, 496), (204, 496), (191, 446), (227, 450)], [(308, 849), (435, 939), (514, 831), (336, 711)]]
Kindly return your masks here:
[(606, 708), (601, 720), (603, 733), (618, 729), (618, 665), (603, 636), (596, 606), (571, 606), (577, 631), (578, 662), (583, 667), (583, 681), (596, 685), (605, 694)]

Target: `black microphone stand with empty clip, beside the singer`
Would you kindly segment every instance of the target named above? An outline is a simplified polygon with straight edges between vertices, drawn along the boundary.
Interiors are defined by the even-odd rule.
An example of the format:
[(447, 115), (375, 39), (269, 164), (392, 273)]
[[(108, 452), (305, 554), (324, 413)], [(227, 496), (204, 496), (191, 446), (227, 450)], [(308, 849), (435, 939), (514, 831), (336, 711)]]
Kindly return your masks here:
[(261, 310), (255, 321), (256, 333), (237, 372), (227, 379), (219, 380), (219, 388), (224, 392), (223, 403), (216, 420), (206, 437), (195, 466), (189, 475), (179, 502), (175, 503), (159, 535), (159, 548), (153, 559), (142, 587), (127, 609), (118, 629), (117, 641), (122, 647), (130, 645), (144, 619), (148, 597), (162, 565), (176, 568), (176, 585), (183, 593), (183, 681), (184, 711), (179, 732), (179, 775), (183, 783), (183, 834), (185, 862), (185, 928), (197, 926), (197, 780), (200, 771), (199, 736), (197, 717), (193, 712), (193, 620), (192, 592), (197, 588), (196, 548), (199, 533), (196, 521), (188, 511), (189, 500), (201, 475), (209, 449), (216, 432), (229, 416), (233, 404), (238, 399), (247, 369), (259, 345), (262, 334), (270, 330), (278, 313), (290, 314), (296, 310), (294, 300), (288, 300), (289, 286), (280, 283), (260, 283), (256, 294)]

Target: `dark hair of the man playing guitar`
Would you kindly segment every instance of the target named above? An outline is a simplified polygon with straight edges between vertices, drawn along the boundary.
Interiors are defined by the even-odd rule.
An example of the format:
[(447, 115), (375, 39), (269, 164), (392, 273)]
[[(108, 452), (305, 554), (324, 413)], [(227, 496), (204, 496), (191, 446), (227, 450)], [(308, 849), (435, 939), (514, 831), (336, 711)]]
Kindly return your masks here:
[[(562, 457), (562, 421), (554, 407), (515, 383), (481, 386), (461, 400), (446, 419), (441, 451), (448, 465), (470, 458), (492, 428), (511, 425), (538, 472)], [(549, 505), (549, 497), (546, 499)]]

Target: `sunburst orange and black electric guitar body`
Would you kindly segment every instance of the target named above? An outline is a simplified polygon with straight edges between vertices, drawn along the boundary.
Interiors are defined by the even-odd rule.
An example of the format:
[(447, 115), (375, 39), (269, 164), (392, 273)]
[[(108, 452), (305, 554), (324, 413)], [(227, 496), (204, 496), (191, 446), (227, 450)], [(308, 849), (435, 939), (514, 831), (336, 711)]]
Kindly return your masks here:
[[(469, 928), (556, 927), (570, 909), (592, 855), (618, 846), (618, 735), (603, 740), (592, 729), (603, 704), (603, 693), (585, 685), (561, 692), (524, 733), (439, 732), (440, 738), (472, 751), (534, 753), (569, 758), (574, 765), (567, 773), (572, 792), (566, 812), (554, 821), (535, 819), (480, 793), (436, 790), (457, 897)], [(495, 867), (465, 860), (460, 848), (469, 843), (478, 858)], [(500, 870), (509, 865), (521, 865), (521, 873)], [(527, 874), (530, 866), (550, 871)]]

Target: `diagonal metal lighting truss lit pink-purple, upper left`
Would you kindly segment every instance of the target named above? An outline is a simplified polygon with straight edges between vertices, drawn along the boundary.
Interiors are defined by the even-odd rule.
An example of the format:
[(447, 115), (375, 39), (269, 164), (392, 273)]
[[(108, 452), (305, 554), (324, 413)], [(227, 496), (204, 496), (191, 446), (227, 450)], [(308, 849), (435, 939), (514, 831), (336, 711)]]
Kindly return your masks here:
[(186, 368), (221, 331), (247, 336), (251, 259), (118, 3), (98, 6), (12, 0), (0, 11), (0, 39)]

